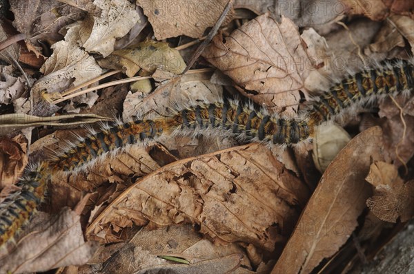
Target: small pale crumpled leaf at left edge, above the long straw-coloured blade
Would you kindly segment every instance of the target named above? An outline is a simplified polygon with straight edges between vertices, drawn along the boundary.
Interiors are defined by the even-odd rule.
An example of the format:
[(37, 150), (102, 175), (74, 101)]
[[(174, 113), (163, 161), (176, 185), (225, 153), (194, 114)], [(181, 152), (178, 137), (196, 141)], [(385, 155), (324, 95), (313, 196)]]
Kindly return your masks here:
[(12, 76), (12, 66), (0, 66), (0, 72), (0, 104), (8, 105), (26, 92), (26, 85), (22, 78)]

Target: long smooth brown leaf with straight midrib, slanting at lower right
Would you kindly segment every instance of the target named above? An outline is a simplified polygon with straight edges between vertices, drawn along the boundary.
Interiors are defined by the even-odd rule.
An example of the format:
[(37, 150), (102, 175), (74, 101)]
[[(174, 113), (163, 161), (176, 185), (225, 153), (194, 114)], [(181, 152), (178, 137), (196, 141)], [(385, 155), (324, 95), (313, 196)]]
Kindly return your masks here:
[(348, 240), (371, 193), (364, 178), (371, 159), (382, 160), (382, 142), (380, 127), (367, 129), (331, 162), (272, 273), (311, 273)]

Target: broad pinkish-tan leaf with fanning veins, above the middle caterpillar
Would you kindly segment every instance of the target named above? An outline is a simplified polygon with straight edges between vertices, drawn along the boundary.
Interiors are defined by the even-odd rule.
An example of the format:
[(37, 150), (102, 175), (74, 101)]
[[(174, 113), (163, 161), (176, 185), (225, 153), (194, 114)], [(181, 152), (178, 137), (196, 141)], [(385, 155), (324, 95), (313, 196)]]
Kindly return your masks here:
[(203, 56), (230, 76), (242, 93), (266, 103), (268, 109), (280, 112), (294, 105), (288, 107), (289, 114), (295, 113), (299, 89), (313, 70), (297, 26), (286, 17), (279, 24), (267, 13), (229, 37), (215, 36)]

